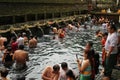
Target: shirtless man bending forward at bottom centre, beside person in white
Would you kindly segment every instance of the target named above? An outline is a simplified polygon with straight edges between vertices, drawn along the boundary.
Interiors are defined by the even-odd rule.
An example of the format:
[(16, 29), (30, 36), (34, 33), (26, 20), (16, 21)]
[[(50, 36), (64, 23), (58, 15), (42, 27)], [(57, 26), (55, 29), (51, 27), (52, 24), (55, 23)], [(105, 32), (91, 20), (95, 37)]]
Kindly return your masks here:
[(43, 74), (42, 79), (43, 80), (58, 80), (60, 76), (60, 66), (58, 64), (54, 65), (53, 67), (47, 67)]

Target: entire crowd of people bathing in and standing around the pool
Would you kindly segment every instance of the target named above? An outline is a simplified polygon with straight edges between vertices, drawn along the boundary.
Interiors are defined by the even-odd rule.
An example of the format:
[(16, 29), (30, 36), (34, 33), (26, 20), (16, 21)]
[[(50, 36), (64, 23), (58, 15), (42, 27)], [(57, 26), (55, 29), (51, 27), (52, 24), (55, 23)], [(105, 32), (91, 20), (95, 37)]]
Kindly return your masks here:
[[(97, 21), (92, 19), (92, 25)], [(103, 65), (103, 80), (110, 80), (112, 69), (115, 65), (120, 66), (120, 30), (117, 32), (117, 28), (114, 23), (104, 19), (103, 17), (98, 20), (98, 23), (102, 25), (102, 30), (96, 31), (96, 36), (101, 38), (102, 45), (102, 65)], [(92, 28), (90, 25), (90, 28)], [(53, 27), (53, 39), (59, 39), (63, 42), (67, 31), (79, 31), (80, 24), (75, 25), (68, 24), (65, 28)], [(87, 29), (86, 24), (83, 27)], [(26, 33), (19, 33), (18, 37), (12, 37), (9, 43), (7, 38), (0, 36), (0, 65), (6, 68), (13, 67), (15, 70), (21, 70), (26, 68), (26, 61), (29, 61), (28, 52), (24, 50), (24, 47), (29, 48), (37, 47), (36, 36), (30, 35), (30, 39)], [(70, 68), (67, 62), (62, 62), (61, 66), (55, 64), (48, 66), (42, 73), (43, 80), (95, 80), (95, 75), (99, 73), (99, 54), (93, 48), (93, 42), (87, 42), (83, 52), (83, 59), (76, 59), (78, 70), (80, 75), (76, 75), (75, 71)], [(1, 78), (6, 78), (8, 70), (2, 69), (0, 71)], [(8, 79), (3, 79), (8, 80)]]

